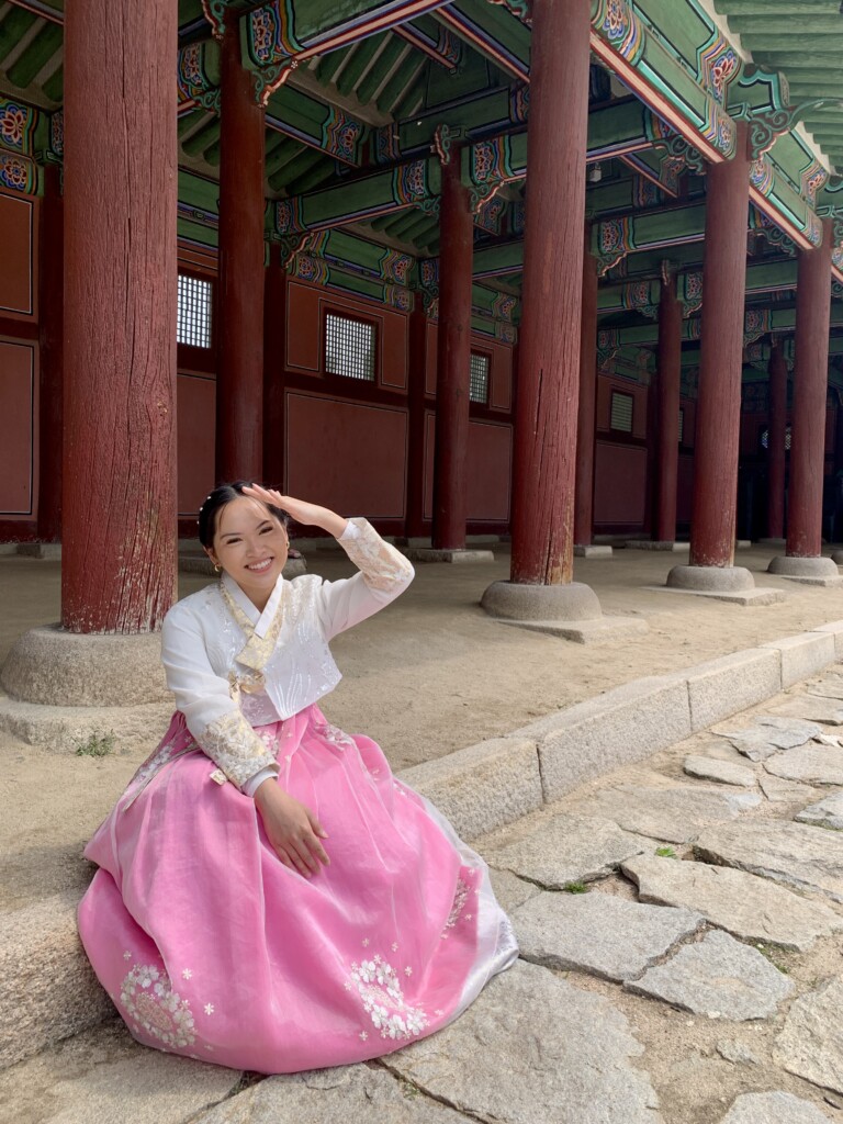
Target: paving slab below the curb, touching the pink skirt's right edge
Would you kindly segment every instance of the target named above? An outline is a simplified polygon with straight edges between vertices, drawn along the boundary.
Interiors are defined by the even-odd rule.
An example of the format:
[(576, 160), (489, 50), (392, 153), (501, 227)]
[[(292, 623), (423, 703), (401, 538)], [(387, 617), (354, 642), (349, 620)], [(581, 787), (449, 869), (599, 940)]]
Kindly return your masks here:
[(644, 844), (609, 819), (553, 816), (526, 839), (492, 850), (490, 867), (510, 870), (547, 889), (606, 878)]

